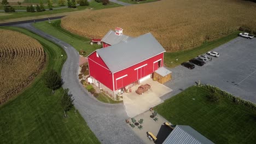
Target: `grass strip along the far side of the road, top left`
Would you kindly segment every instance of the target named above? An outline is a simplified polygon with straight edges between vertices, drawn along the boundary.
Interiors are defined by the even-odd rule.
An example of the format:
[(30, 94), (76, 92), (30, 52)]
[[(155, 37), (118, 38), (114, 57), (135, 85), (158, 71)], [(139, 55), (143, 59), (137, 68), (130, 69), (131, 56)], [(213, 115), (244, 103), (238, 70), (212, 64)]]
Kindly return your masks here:
[[(40, 13), (27, 13), (27, 12), (15, 12), (15, 13), (8, 13), (10, 15), (2, 15), (1, 14), (5, 14), (4, 12), (0, 13), (0, 22), (6, 22), (7, 20), (10, 19), (17, 19), (17, 18), (21, 18), (21, 17), (33, 17), (33, 16), (42, 16), (45, 15), (45, 17), (53, 17), (53, 16), (59, 16), (58, 14), (61, 13), (67, 13), (67, 12), (75, 12), (75, 11), (81, 11), (81, 10), (85, 10), (85, 9), (89, 9), (92, 8), (93, 10), (97, 10), (97, 9), (106, 9), (106, 8), (113, 8), (113, 7), (120, 7), (119, 4), (115, 4), (115, 3), (110, 3), (108, 5), (102, 5), (102, 3), (97, 3), (95, 1), (91, 1), (89, 6), (78, 6), (77, 8), (73, 9), (73, 8), (63, 8), (63, 9), (55, 9), (55, 10), (46, 10)], [(45, 7), (47, 8), (47, 7)], [(86, 13), (86, 12), (85, 12)], [(79, 13), (76, 13), (79, 15)], [(67, 14), (62, 14), (62, 15), (67, 15)], [(36, 17), (34, 19), (37, 19)], [(26, 19), (24, 19), (26, 20)]]

